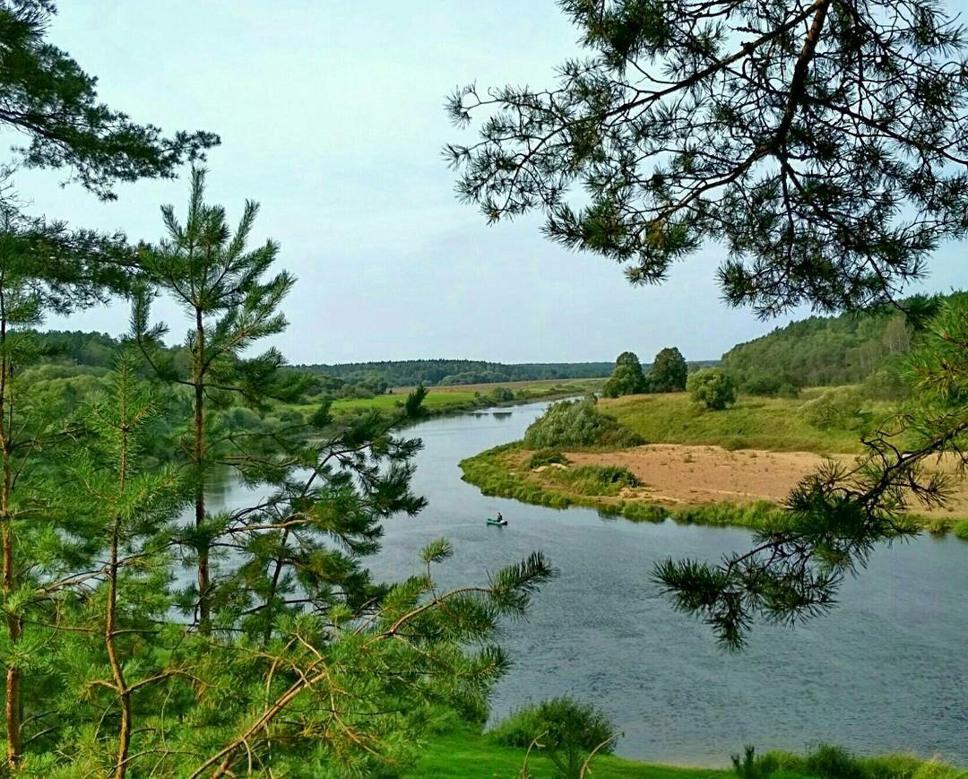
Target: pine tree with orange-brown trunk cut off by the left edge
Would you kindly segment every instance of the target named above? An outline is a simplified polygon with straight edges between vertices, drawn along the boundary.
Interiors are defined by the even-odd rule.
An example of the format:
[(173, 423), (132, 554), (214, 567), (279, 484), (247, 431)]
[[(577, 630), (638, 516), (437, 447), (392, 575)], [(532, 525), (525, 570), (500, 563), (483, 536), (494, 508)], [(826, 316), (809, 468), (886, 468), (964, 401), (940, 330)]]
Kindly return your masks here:
[[(21, 648), (24, 614), (39, 597), (30, 577), (38, 569), (64, 573), (65, 563), (82, 559), (70, 542), (51, 536), (55, 512), (49, 501), (56, 497), (42, 495), (43, 471), (49, 469), (55, 444), (69, 434), (71, 421), (52, 399), (27, 391), (20, 372), (40, 358), (33, 329), (44, 316), (100, 302), (107, 287), (123, 284), (118, 269), (130, 255), (122, 236), (71, 231), (9, 208), (0, 214), (0, 535), (9, 764), (19, 761), (23, 740), (22, 671), (36, 659)], [(38, 554), (51, 558), (39, 566)]]

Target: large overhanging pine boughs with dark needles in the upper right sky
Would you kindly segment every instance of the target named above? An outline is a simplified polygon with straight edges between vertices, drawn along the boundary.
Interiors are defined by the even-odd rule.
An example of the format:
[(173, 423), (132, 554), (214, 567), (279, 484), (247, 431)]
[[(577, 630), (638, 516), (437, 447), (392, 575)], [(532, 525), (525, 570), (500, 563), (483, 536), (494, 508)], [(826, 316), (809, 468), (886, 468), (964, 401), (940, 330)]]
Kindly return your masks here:
[(560, 5), (584, 51), (557, 84), (450, 101), (482, 118), (445, 154), (488, 220), (540, 210), (635, 284), (716, 242), (726, 299), (761, 315), (890, 302), (968, 232), (966, 47), (939, 5)]

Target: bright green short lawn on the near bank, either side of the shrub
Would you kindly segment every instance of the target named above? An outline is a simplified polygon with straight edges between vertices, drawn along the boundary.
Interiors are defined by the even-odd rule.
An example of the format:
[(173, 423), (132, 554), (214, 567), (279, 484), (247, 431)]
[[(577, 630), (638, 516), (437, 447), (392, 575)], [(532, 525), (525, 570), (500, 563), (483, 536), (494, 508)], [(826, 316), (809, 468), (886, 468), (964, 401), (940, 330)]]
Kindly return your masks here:
[[(453, 779), (518, 779), (526, 750), (491, 743), (484, 735), (457, 733), (440, 736), (423, 753), (406, 777)], [(611, 756), (591, 764), (594, 779), (719, 779), (735, 776), (732, 770), (677, 768), (622, 760)], [(551, 761), (532, 753), (528, 769), (533, 779), (552, 779)]]

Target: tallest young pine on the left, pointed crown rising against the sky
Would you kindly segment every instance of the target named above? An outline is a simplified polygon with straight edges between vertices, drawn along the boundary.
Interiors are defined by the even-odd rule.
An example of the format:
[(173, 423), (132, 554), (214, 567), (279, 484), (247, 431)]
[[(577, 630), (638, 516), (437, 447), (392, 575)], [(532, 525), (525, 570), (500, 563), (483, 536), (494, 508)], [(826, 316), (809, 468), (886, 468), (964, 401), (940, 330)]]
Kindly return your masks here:
[(214, 540), (227, 532), (228, 518), (206, 511), (206, 477), (216, 468), (229, 466), (253, 482), (278, 478), (271, 472), (271, 460), (250, 456), (245, 443), (253, 442), (251, 436), (244, 440), (227, 434), (214, 411), (236, 400), (256, 407), (264, 407), (270, 398), (291, 400), (305, 387), (306, 379), (282, 371), (283, 356), (275, 348), (257, 357), (243, 356), (251, 346), (285, 329), (279, 306), (294, 280), (283, 272), (264, 281), (279, 253), (278, 244), (269, 240), (255, 250), (247, 249), (257, 204), (246, 202), (232, 232), (225, 210), (204, 202), (204, 180), (204, 171), (195, 168), (184, 225), (171, 206), (162, 209), (167, 238), (146, 250), (142, 260), (149, 285), (171, 295), (191, 319), (185, 340), (187, 370), (179, 370), (170, 354), (159, 348), (166, 326), (149, 325), (152, 286), (136, 292), (132, 326), (136, 343), (157, 375), (191, 394), (192, 427), (184, 440), (184, 453), (192, 468), (195, 517), (185, 543), (197, 560), (198, 629), (208, 633), (219, 594), (211, 549)]

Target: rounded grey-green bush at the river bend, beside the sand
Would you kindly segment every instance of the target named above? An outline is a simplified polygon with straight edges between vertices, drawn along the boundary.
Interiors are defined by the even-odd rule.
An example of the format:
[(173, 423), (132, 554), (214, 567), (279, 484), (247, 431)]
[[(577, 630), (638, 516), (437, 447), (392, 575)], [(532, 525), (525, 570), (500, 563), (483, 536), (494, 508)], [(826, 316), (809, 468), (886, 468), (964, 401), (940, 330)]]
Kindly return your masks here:
[(549, 447), (637, 446), (642, 440), (598, 410), (593, 399), (562, 401), (529, 425), (530, 449)]

